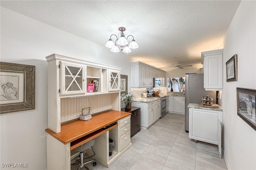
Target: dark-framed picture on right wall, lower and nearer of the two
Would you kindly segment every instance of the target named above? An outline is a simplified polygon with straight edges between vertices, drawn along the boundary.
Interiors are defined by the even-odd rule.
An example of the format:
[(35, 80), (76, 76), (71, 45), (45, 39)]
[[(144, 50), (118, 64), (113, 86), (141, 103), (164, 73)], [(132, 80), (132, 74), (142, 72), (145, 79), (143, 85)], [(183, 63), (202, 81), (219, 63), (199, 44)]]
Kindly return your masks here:
[(256, 130), (255, 98), (256, 90), (236, 88), (237, 115)]

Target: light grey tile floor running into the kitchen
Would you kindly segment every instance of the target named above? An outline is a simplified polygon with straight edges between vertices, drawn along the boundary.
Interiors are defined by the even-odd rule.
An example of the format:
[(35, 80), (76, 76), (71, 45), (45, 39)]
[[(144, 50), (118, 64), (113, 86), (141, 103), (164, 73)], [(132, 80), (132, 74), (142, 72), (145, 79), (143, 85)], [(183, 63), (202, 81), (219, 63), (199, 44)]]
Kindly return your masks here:
[[(167, 113), (131, 138), (132, 146), (109, 168), (99, 162), (90, 170), (226, 170), (218, 146), (195, 143), (184, 131), (184, 115)], [(73, 170), (73, 168), (72, 168)]]

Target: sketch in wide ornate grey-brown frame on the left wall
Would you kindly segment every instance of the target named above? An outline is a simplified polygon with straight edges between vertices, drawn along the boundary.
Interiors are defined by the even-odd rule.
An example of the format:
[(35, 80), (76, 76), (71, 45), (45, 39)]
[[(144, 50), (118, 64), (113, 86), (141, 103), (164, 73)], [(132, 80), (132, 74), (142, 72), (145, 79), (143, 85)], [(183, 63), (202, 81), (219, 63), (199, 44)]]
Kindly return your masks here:
[(35, 109), (35, 66), (0, 62), (0, 114)]

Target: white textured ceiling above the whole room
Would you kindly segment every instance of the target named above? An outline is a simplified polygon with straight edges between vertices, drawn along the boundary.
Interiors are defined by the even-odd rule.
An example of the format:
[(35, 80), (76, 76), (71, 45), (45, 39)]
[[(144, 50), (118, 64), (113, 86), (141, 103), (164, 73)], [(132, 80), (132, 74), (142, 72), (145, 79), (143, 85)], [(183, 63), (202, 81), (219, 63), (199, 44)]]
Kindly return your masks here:
[[(102, 46), (111, 34), (133, 35), (125, 54), (160, 69), (200, 63), (201, 51), (222, 48), (240, 4), (216, 1), (4, 1), (1, 6)], [(128, 39), (129, 40), (129, 39)], [(131, 41), (131, 40), (130, 40)]]

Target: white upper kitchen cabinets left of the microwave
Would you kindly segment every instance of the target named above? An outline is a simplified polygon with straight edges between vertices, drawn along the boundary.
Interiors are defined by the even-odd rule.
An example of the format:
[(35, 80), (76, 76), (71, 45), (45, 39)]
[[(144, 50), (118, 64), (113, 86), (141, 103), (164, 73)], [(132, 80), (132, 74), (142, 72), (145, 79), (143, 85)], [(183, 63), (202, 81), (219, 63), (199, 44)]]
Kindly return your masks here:
[(154, 77), (161, 78), (162, 87), (165, 86), (166, 71), (152, 67), (140, 61), (130, 63), (130, 87), (154, 87)]

